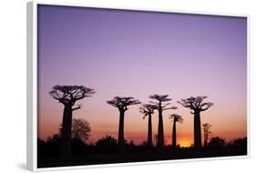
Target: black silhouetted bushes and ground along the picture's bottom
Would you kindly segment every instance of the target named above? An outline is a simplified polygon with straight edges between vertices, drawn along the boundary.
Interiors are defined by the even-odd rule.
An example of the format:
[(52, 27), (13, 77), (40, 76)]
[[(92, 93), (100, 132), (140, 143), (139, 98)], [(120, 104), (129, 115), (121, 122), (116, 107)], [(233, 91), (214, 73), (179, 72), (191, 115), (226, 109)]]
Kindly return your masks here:
[(94, 145), (87, 145), (82, 139), (73, 138), (72, 155), (65, 159), (60, 155), (60, 143), (58, 135), (46, 141), (38, 139), (38, 168), (247, 155), (247, 137), (233, 139), (230, 142), (220, 137), (212, 137), (208, 145), (200, 151), (193, 147), (148, 147), (146, 142), (135, 145), (133, 141), (128, 143), (125, 140), (125, 153), (123, 154), (119, 154), (118, 141), (114, 137), (102, 137)]

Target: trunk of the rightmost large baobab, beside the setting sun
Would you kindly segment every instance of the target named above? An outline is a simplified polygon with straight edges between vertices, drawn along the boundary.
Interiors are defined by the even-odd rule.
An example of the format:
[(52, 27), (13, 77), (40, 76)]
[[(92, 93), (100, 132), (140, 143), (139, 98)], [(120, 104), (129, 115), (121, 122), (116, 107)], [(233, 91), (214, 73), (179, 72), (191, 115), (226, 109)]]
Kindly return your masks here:
[(200, 127), (200, 112), (194, 114), (194, 148), (201, 149), (201, 127)]

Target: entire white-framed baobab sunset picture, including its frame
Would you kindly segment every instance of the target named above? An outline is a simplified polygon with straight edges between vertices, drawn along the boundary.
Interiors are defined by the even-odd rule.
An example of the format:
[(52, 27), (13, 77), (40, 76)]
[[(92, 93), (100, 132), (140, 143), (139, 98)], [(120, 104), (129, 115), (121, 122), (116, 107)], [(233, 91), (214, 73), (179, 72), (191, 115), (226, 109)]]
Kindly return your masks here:
[(28, 168), (247, 158), (248, 25), (28, 3)]

